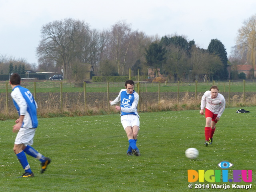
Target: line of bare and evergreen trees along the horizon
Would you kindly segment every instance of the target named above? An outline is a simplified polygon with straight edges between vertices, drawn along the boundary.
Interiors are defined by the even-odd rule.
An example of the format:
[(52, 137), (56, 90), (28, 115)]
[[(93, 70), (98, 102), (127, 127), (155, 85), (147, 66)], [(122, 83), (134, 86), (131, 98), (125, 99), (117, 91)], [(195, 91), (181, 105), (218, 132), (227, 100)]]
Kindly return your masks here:
[(218, 39), (212, 39), (208, 48), (203, 49), (184, 35), (147, 36), (132, 30), (131, 24), (124, 20), (105, 30), (92, 29), (88, 23), (72, 18), (56, 20), (41, 28), (41, 40), (36, 48), (38, 66), (26, 60), (8, 61), (0, 55), (0, 72), (7, 65), (10, 68), (11, 63), (14, 67), (24, 64), (28, 70), (60, 72), (63, 69), (66, 79), (76, 81), (83, 76), (84, 64), (90, 64), (95, 76), (124, 76), (129, 74), (129, 69), (133, 75), (138, 71), (140, 75), (148, 75), (148, 68), (153, 68), (155, 76), (160, 69), (160, 74), (168, 80), (234, 79), (234, 74), (228, 73), (228, 65), (255, 66), (256, 36), (252, 31), (256, 16), (245, 20), (243, 25), (228, 60), (226, 48)]

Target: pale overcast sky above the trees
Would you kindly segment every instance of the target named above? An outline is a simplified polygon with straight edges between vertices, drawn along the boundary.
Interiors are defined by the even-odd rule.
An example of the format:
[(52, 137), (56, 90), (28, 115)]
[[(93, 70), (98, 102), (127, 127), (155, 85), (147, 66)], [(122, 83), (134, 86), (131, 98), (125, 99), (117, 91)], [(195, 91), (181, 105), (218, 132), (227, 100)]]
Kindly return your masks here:
[(242, 22), (256, 14), (256, 0), (0, 0), (0, 54), (38, 63), (42, 26), (83, 20), (109, 29), (120, 20), (146, 35), (184, 35), (207, 49), (220, 40), (228, 53)]

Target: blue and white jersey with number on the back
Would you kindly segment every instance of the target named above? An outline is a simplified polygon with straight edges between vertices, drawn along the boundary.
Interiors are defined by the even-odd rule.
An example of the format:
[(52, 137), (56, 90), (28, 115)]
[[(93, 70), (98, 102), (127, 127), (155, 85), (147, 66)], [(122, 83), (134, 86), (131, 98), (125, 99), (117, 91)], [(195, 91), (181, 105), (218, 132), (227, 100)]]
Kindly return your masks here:
[(37, 128), (37, 103), (32, 93), (22, 86), (15, 86), (11, 93), (14, 106), (19, 115), (24, 115), (22, 128)]

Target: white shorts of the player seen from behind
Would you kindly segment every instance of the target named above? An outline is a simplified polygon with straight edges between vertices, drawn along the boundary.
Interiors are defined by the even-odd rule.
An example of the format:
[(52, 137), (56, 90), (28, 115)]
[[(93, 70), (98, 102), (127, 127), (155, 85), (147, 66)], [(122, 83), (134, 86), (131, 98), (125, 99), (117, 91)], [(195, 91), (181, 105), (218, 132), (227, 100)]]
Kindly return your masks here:
[(24, 146), (32, 145), (36, 128), (20, 128), (14, 144), (24, 144)]

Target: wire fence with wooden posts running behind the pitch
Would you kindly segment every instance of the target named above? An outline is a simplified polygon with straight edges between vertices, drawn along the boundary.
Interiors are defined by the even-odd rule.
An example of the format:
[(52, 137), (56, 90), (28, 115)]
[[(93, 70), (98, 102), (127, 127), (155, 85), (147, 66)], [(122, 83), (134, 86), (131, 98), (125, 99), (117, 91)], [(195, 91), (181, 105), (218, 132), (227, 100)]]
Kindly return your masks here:
[[(251, 82), (193, 82), (193, 83), (148, 83), (135, 82), (134, 90), (140, 95), (138, 110), (148, 111), (148, 106), (152, 103), (158, 103), (161, 100), (182, 100), (198, 99), (202, 94), (209, 90), (213, 84), (217, 85), (219, 92), (224, 95), (226, 103), (237, 95), (244, 98), (255, 95), (256, 84)], [(114, 100), (122, 88), (125, 88), (124, 82), (103, 82), (103, 83), (65, 83), (59, 81), (50, 82), (25, 82), (24, 86), (33, 93), (38, 110), (51, 110), (55, 108), (59, 112), (70, 110), (70, 108), (87, 107), (109, 107), (109, 100)], [(0, 113), (7, 113), (14, 110), (11, 86), (7, 83), (0, 83)]]

